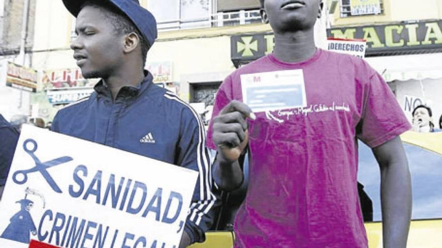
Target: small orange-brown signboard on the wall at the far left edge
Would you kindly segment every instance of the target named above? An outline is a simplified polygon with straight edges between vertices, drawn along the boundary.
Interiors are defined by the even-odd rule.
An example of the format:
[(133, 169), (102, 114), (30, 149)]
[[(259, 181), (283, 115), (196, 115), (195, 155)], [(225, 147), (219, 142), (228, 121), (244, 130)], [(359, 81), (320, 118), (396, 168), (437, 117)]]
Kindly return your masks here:
[(4, 61), (0, 65), (0, 76), (2, 84), (24, 91), (37, 91), (37, 71), (31, 68), (23, 67), (12, 62)]

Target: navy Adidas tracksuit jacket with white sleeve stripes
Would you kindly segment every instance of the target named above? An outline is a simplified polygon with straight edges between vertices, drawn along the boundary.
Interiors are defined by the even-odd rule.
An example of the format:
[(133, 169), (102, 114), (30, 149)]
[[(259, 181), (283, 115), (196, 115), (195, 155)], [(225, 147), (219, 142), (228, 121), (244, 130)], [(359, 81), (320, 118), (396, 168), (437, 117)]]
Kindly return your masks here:
[(98, 82), (90, 97), (58, 111), (51, 129), (199, 172), (184, 230), (203, 241), (215, 203), (204, 127), (196, 112), (148, 75), (137, 86), (123, 87), (113, 101)]

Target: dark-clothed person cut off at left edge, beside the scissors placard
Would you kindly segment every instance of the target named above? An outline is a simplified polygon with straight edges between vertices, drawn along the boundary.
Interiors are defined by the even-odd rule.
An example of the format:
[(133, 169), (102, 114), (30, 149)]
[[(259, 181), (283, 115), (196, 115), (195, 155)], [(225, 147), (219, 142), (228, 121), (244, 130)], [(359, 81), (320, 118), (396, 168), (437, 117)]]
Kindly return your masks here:
[(16, 150), (19, 132), (0, 114), (0, 200)]

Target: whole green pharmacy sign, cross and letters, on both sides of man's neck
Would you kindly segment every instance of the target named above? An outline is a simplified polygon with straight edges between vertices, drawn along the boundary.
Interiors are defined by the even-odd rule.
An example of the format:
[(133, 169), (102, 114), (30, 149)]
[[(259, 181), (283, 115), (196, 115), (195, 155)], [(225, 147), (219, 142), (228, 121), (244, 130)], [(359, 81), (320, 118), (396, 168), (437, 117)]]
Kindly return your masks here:
[[(327, 36), (366, 40), (366, 56), (442, 52), (442, 20), (332, 28)], [(238, 65), (256, 60), (271, 53), (274, 45), (272, 33), (232, 36), (232, 61)]]

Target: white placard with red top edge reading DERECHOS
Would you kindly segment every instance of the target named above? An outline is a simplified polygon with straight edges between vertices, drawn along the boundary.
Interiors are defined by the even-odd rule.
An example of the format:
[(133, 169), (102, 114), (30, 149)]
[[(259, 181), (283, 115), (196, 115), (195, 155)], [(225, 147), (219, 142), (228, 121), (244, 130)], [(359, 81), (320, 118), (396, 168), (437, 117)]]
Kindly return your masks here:
[(328, 38), (327, 43), (328, 51), (353, 55), (359, 58), (365, 57), (366, 44), (364, 40)]

